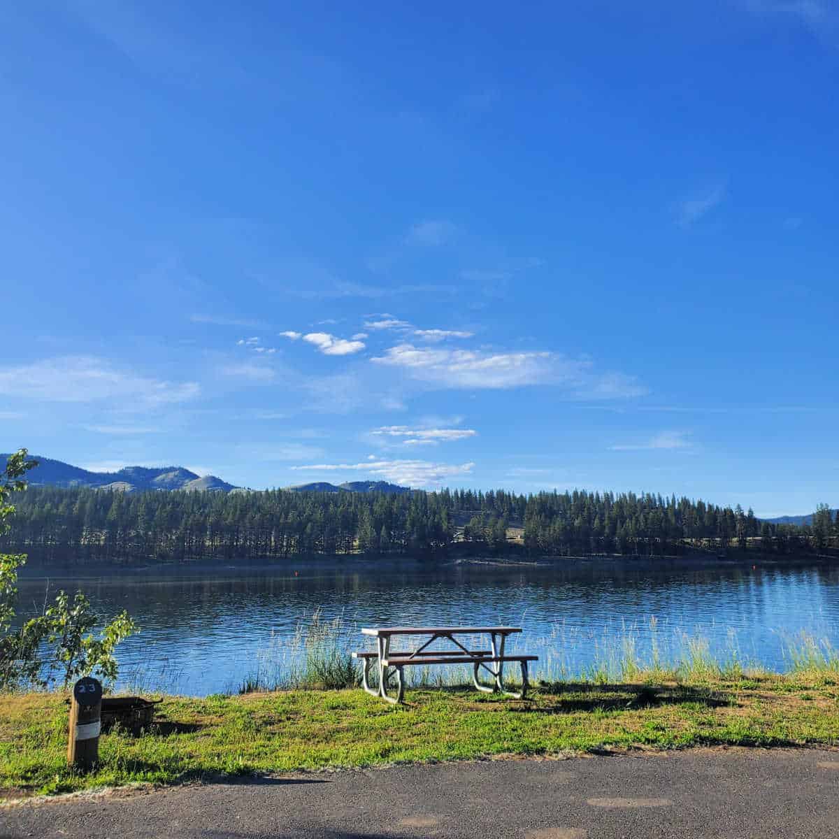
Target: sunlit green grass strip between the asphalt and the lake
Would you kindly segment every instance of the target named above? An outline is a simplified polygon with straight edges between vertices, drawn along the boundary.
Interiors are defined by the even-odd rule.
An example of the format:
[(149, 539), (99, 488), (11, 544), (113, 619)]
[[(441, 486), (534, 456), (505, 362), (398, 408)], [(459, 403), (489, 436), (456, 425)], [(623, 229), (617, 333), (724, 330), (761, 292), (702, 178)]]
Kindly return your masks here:
[[(701, 651), (697, 651), (702, 659)], [(699, 668), (704, 670), (704, 668)], [(474, 690), (408, 690), (389, 706), (362, 690), (172, 697), (148, 732), (102, 737), (100, 766), (66, 766), (58, 694), (0, 696), (0, 799), (138, 782), (376, 766), (498, 755), (598, 753), (699, 745), (839, 745), (831, 670), (627, 683), (542, 685), (524, 701)]]

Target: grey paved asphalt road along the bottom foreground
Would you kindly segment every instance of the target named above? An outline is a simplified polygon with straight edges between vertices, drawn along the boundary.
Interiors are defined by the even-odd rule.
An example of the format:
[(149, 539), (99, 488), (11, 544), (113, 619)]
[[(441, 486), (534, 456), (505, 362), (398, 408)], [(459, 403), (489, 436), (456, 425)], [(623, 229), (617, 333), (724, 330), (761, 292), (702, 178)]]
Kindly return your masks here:
[(197, 784), (8, 807), (0, 836), (839, 837), (839, 752), (693, 750)]

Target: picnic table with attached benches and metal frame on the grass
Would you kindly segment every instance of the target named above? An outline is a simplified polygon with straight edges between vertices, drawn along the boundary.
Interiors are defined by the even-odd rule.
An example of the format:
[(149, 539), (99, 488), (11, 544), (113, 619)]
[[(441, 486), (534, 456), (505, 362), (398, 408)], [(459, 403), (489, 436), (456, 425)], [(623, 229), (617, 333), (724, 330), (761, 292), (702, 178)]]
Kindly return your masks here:
[[(376, 639), (376, 649), (373, 651), (358, 650), (352, 658), (363, 662), (362, 685), (367, 693), (381, 696), (382, 699), (394, 704), (402, 701), (405, 692), (402, 670), (406, 666), (422, 664), (472, 664), (472, 680), (477, 690), (492, 693), (499, 690), (507, 696), (522, 699), (527, 693), (527, 665), (529, 661), (538, 661), (537, 655), (508, 655), (504, 651), (509, 635), (520, 633), (520, 627), (376, 627), (363, 628), (362, 634)], [(490, 649), (469, 649), (461, 644), (458, 636), (488, 635)], [(404, 636), (417, 638), (427, 636), (425, 643), (417, 649), (390, 649), (391, 638)], [(451, 644), (447, 649), (428, 649), (435, 641)], [(407, 646), (403, 641), (402, 646)], [(518, 692), (504, 687), (504, 664), (516, 662), (521, 667), (522, 688)], [(370, 671), (376, 666), (378, 685), (370, 684)], [(483, 685), (479, 676), (481, 670), (486, 670), (492, 676), (492, 685)], [(391, 680), (396, 679), (396, 695), (388, 695), (388, 688), (393, 687)]]

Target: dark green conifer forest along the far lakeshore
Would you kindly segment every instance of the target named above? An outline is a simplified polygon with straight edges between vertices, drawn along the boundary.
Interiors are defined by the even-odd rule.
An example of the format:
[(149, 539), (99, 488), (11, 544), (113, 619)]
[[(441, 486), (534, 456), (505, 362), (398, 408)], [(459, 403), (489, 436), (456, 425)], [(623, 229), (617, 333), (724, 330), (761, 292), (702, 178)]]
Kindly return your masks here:
[(316, 554), (519, 552), (670, 555), (836, 547), (827, 508), (812, 527), (751, 510), (612, 492), (141, 492), (30, 487), (0, 550), (80, 564), (285, 560)]

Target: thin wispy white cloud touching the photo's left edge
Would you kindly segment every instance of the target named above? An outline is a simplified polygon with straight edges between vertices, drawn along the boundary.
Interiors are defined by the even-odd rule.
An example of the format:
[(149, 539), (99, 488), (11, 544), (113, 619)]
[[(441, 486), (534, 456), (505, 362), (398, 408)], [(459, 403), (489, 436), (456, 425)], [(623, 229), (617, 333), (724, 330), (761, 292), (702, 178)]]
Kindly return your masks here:
[(151, 407), (194, 399), (198, 383), (165, 382), (113, 367), (92, 356), (65, 356), (0, 367), (0, 394), (50, 402), (121, 399)]

